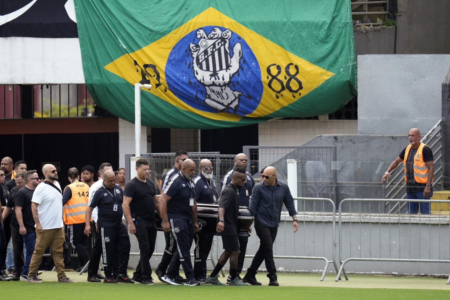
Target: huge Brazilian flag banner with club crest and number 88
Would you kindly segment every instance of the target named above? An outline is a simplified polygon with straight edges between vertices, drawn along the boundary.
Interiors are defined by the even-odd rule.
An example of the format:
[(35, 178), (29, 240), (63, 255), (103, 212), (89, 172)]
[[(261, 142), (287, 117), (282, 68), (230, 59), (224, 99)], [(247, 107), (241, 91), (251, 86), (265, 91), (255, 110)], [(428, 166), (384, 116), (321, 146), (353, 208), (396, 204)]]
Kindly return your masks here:
[(85, 82), (142, 125), (211, 129), (338, 110), (356, 96), (350, 0), (75, 0)]

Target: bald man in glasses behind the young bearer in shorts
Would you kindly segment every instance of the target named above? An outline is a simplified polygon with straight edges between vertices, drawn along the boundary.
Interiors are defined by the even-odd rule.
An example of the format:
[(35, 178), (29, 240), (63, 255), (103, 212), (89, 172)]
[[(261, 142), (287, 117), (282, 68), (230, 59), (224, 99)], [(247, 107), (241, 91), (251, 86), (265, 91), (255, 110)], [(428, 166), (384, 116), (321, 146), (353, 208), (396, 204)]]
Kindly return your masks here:
[[(247, 169), (248, 159), (244, 153), (239, 153), (234, 157), (234, 167), (231, 169), (222, 179), (220, 179), (220, 193), (224, 190), (224, 188), (231, 182), (233, 178), (233, 172), (237, 168)], [(248, 207), (248, 203), (250, 202), (250, 196), (252, 195), (253, 186), (255, 185), (255, 179), (253, 179), (250, 173), (246, 172), (247, 180), (243, 184), (242, 187), (239, 187), (239, 206)], [(252, 226), (250, 226), (248, 233), (252, 233)], [(239, 259), (238, 259), (238, 269), (237, 274), (238, 278), (241, 279), (239, 273), (242, 272), (242, 268), (244, 265), (245, 252), (247, 251), (247, 243), (248, 237), (238, 236), (239, 239)], [(228, 276), (227, 283), (229, 283), (233, 278)]]

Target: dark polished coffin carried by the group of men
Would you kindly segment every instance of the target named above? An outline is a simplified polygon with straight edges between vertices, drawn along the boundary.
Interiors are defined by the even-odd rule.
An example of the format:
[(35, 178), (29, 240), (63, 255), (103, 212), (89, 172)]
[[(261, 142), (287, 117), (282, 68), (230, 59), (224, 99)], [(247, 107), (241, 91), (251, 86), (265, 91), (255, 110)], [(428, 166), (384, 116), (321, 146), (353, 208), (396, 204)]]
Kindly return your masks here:
[[(216, 232), (218, 204), (199, 204), (197, 203), (197, 219), (200, 227), (199, 233), (220, 235)], [(253, 215), (245, 206), (239, 206), (238, 215), (238, 235), (249, 237), (248, 229), (253, 223)], [(155, 214), (155, 221), (159, 231), (162, 231), (161, 218)]]

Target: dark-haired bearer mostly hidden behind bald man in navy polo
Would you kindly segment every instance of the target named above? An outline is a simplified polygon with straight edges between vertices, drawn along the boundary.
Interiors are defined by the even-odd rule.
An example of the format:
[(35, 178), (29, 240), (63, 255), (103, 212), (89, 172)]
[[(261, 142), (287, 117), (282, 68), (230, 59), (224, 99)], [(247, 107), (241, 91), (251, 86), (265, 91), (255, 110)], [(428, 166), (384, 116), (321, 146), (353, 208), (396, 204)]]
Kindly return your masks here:
[[(170, 181), (170, 179), (178, 174), (178, 172), (181, 170), (181, 165), (183, 164), (183, 161), (188, 159), (188, 152), (184, 150), (179, 150), (175, 152), (175, 165), (171, 170), (168, 170), (164, 175), (162, 175), (161, 179), (161, 186), (162, 191), (164, 191), (167, 188), (167, 183)], [(166, 270), (169, 267), (169, 264), (172, 260), (172, 256), (174, 254), (174, 251), (176, 251), (176, 242), (173, 240), (173, 237), (170, 233), (164, 233), (164, 238), (166, 239), (166, 248), (164, 249), (164, 254), (162, 255), (161, 262), (158, 264), (158, 266), (155, 269), (156, 276), (161, 282), (165, 282), (162, 280), (164, 275), (166, 275)], [(178, 266), (180, 267), (180, 266)], [(176, 279), (179, 282), (186, 282), (186, 279), (181, 277), (180, 274), (176, 275)]]

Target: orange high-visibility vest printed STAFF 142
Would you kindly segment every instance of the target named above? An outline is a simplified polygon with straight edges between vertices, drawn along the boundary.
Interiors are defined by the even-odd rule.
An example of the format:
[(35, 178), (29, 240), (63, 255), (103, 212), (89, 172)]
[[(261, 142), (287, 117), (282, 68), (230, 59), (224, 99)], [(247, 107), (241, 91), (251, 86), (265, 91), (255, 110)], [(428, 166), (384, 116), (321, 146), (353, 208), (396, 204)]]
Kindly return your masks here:
[(82, 182), (67, 185), (72, 191), (72, 198), (63, 207), (64, 224), (85, 223), (85, 213), (89, 201), (89, 186)]

